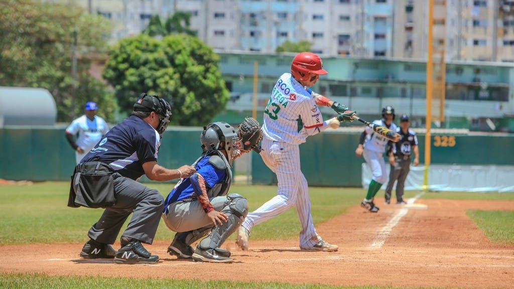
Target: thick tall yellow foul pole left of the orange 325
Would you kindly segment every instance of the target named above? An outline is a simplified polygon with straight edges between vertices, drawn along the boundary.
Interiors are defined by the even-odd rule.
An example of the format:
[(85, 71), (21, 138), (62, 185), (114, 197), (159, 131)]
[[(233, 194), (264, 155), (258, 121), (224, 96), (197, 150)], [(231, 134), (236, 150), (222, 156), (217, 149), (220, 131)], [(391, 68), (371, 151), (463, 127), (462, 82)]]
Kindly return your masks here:
[(425, 134), (425, 177), (423, 189), (428, 191), (428, 169), (430, 167), (430, 127), (432, 124), (432, 84), (433, 84), (433, 24), (434, 24), (434, 0), (428, 1), (428, 37), (427, 37), (427, 116)]

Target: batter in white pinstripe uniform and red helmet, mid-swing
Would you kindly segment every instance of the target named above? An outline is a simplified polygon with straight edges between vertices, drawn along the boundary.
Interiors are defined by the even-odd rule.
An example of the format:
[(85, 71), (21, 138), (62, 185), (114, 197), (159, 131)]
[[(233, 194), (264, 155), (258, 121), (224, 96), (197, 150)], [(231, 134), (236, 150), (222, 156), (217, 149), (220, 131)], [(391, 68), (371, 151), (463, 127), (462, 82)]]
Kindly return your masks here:
[(238, 230), (237, 245), (248, 249), (248, 236), (253, 226), (277, 216), (290, 207), (297, 210), (302, 231), (300, 248), (336, 251), (338, 246), (325, 242), (314, 228), (310, 213), (307, 180), (300, 170), (299, 145), (306, 138), (329, 127), (323, 121), (318, 105), (332, 107), (339, 121), (352, 120), (355, 112), (344, 105), (314, 93), (310, 88), (320, 75), (327, 74), (321, 58), (314, 53), (299, 53), (291, 63), (291, 73), (283, 74), (274, 85), (264, 111), (262, 152), (268, 168), (277, 174), (277, 195), (257, 210), (248, 213)]

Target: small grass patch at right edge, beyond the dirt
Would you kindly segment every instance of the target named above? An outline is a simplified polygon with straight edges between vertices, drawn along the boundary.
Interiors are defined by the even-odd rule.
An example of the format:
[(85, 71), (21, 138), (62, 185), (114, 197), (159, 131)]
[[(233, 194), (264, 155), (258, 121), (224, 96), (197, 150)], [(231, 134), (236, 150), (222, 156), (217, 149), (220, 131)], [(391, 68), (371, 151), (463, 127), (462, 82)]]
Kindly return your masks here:
[(491, 242), (514, 244), (514, 211), (468, 210), (466, 215)]

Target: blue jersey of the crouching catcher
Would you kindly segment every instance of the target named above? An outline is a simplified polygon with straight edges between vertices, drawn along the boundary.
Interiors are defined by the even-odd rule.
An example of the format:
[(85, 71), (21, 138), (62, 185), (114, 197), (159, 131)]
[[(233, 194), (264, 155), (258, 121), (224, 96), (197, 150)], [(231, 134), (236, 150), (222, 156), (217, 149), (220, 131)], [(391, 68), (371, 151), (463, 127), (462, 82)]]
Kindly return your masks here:
[[(210, 157), (211, 156), (205, 156), (201, 158), (194, 166), (196, 173), (204, 177), (207, 191), (214, 187), (214, 185), (225, 182), (226, 177), (225, 169), (214, 167), (209, 162)], [(168, 206), (172, 203), (177, 201), (191, 202), (197, 200), (196, 197), (197, 195), (193, 189), (193, 185), (191, 185), (191, 179), (189, 177), (182, 178), (168, 194), (168, 197), (166, 197), (164, 210), (167, 210)]]

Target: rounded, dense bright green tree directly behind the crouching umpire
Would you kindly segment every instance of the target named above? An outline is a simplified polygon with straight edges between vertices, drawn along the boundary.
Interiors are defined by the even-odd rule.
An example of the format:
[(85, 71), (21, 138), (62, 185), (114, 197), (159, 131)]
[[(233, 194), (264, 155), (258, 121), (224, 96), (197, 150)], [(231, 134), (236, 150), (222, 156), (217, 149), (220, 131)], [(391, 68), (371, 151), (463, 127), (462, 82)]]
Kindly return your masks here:
[(103, 77), (116, 90), (124, 112), (141, 93), (157, 94), (172, 105), (172, 124), (205, 125), (225, 109), (229, 92), (219, 57), (196, 37), (173, 34), (126, 38), (109, 52)]

